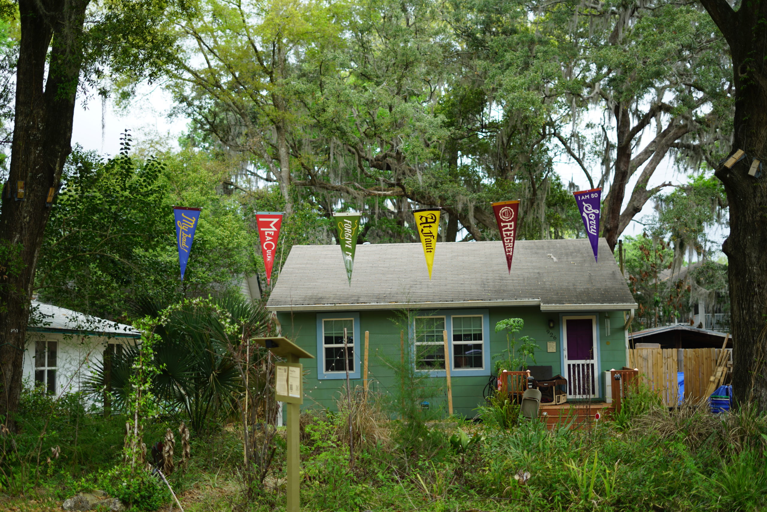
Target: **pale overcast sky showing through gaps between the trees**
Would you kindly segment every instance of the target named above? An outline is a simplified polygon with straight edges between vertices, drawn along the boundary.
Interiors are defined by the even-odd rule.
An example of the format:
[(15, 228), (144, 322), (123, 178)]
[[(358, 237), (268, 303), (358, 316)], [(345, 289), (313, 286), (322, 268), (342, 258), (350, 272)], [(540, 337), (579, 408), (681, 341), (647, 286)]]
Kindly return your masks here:
[[(125, 110), (118, 110), (112, 101), (106, 104), (100, 98), (84, 102), (82, 97), (78, 100), (74, 111), (74, 126), (72, 130), (72, 146), (80, 144), (85, 150), (96, 150), (105, 156), (114, 156), (120, 151), (120, 136), (123, 130), (130, 129), (134, 146), (146, 144), (147, 140), (164, 139), (170, 147), (178, 147), (178, 137), (186, 130), (188, 120), (183, 117), (170, 118), (170, 107), (173, 101), (166, 91), (159, 86), (143, 85), (139, 88), (135, 99)], [(102, 121), (104, 122), (102, 130)], [(562, 181), (569, 180), (581, 186), (581, 190), (588, 188), (588, 181), (577, 164), (561, 160), (555, 164), (555, 170), (559, 173)], [(634, 187), (639, 173), (635, 173), (630, 181), (626, 192), (626, 202), (630, 197), (630, 191)], [(674, 184), (684, 183), (686, 176), (674, 169), (670, 158), (666, 158), (658, 166), (649, 187), (670, 181)], [(670, 191), (670, 187), (666, 189)], [(625, 204), (624, 204), (625, 206)], [(642, 221), (644, 217), (653, 213), (653, 201), (644, 205), (644, 209), (634, 216), (635, 220)], [(624, 235), (637, 236), (643, 231), (640, 223), (632, 222), (624, 231)], [(716, 230), (709, 233), (713, 239), (723, 241), (725, 231)]]

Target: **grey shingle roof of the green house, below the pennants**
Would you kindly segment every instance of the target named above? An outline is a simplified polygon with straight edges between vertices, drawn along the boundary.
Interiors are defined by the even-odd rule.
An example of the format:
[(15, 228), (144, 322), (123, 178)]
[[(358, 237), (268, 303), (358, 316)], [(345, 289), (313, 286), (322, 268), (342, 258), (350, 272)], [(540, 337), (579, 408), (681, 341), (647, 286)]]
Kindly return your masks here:
[(519, 240), (512, 272), (500, 242), (438, 243), (431, 281), (420, 243), (358, 245), (347, 282), (339, 246), (293, 246), (267, 308), (398, 309), (540, 305), (636, 308), (607, 242), (599, 263), (587, 239)]

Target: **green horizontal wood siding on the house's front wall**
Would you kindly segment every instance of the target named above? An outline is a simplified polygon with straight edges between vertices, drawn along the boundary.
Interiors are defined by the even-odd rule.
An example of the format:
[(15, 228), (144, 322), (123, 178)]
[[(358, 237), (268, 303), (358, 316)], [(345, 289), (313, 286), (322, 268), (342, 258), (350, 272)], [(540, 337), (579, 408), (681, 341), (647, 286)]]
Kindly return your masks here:
[[(400, 362), (400, 329), (405, 329), (407, 346), (407, 326), (399, 318), (397, 311), (359, 311), (350, 310), (360, 315), (360, 332), (357, 334), (360, 339), (359, 362), (360, 370), (364, 355), (364, 332), (370, 332), (370, 355), (369, 355), (369, 376), (370, 389), (381, 393), (388, 393), (397, 385), (394, 378), (393, 368), (390, 364), (399, 364)], [(449, 309), (439, 310), (439, 314), (449, 315)], [(565, 312), (565, 314), (567, 314)], [(611, 320), (611, 334), (605, 333), (605, 314), (609, 315)], [(505, 307), (489, 309), (489, 345), (491, 355), (498, 354), (506, 348), (505, 332), (495, 332), (495, 323), (502, 319), (521, 318), (525, 321), (525, 328), (520, 335), (529, 335), (538, 342), (538, 351), (535, 353), (535, 365), (551, 365), (553, 375), (563, 373), (561, 368), (561, 320), (560, 312), (542, 312), (538, 306), (527, 307)], [(611, 368), (621, 368), (625, 364), (625, 335), (623, 329), (623, 312), (578, 312), (578, 315), (596, 315), (597, 316), (597, 336), (599, 343), (601, 372)], [(317, 352), (317, 313), (315, 312), (295, 312), (278, 313), (278, 319), (281, 323), (282, 334), (290, 339), (295, 339), (295, 343), (304, 348), (311, 354)], [(553, 320), (553, 328), (548, 327), (548, 321)], [(399, 325), (398, 323), (399, 322)], [(547, 332), (548, 331), (548, 332)], [(556, 342), (556, 352), (546, 352), (547, 342)], [(608, 345), (609, 342), (609, 345)], [(321, 356), (321, 355), (320, 355)], [(319, 359), (302, 360), (304, 363), (306, 397), (304, 398), (304, 408), (335, 408), (335, 400), (341, 394), (345, 383), (344, 379), (318, 379), (318, 364), (322, 362)], [(491, 361), (491, 368), (495, 362)], [(360, 375), (361, 372), (360, 372)], [(604, 394), (604, 382), (602, 373), (599, 377), (599, 388)], [(436, 377), (441, 382), (444, 378)], [(487, 376), (453, 376), (453, 408), (456, 414), (473, 417), (476, 415), (476, 407), (482, 404), (482, 390), (488, 382)], [(351, 379), (351, 385), (362, 386), (362, 378)], [(433, 407), (439, 407), (446, 401), (446, 394), (430, 399)]]

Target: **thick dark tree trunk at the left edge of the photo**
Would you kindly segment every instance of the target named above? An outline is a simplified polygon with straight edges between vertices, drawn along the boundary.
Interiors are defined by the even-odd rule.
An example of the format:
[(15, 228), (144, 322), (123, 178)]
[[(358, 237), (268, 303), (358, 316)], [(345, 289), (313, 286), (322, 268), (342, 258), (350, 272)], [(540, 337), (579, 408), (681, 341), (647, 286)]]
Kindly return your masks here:
[[(72, 117), (82, 63), (82, 30), (90, 0), (20, 0), (21, 41), (11, 166), (0, 213), (0, 244), (23, 266), (0, 286), (0, 417), (15, 429), (35, 267), (50, 208), (71, 152)], [(48, 60), (48, 69), (46, 69)], [(48, 71), (46, 76), (46, 71)], [(16, 200), (24, 182), (24, 199)], [(10, 193), (10, 194), (9, 194)], [(8, 197), (10, 195), (11, 197)], [(5, 251), (8, 254), (8, 250)], [(10, 268), (6, 258), (0, 266)]]

